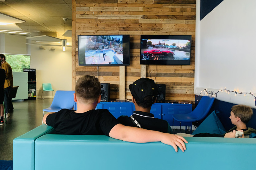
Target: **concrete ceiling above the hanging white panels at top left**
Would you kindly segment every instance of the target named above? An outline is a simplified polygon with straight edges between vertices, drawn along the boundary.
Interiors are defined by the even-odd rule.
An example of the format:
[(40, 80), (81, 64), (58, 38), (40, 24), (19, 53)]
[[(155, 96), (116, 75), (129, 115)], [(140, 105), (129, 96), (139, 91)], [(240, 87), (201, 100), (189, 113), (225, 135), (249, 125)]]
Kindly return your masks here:
[(62, 35), (72, 28), (72, 0), (5, 0), (0, 2), (0, 12), (25, 20), (16, 25), (31, 36), (71, 39)]

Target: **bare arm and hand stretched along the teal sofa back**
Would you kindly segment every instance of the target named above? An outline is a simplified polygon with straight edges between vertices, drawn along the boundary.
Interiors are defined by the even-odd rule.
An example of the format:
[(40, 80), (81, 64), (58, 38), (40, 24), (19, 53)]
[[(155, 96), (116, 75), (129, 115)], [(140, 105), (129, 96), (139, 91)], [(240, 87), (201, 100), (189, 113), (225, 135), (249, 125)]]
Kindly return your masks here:
[(115, 139), (120, 139), (127, 142), (162, 142), (167, 145), (173, 146), (176, 152), (178, 152), (177, 146), (184, 152), (186, 146), (184, 144), (188, 143), (186, 139), (181, 136), (162, 133), (159, 131), (150, 131), (141, 128), (124, 126), (122, 124), (117, 124), (109, 132), (109, 136)]

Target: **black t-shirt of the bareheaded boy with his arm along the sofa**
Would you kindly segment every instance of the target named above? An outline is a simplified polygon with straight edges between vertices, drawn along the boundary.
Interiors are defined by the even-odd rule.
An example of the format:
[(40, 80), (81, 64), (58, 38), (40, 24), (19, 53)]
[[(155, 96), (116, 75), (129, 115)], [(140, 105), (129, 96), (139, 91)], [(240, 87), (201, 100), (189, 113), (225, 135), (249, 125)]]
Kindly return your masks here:
[(118, 124), (107, 109), (89, 110), (76, 113), (75, 110), (61, 109), (49, 114), (46, 124), (52, 126), (57, 134), (64, 135), (107, 135)]

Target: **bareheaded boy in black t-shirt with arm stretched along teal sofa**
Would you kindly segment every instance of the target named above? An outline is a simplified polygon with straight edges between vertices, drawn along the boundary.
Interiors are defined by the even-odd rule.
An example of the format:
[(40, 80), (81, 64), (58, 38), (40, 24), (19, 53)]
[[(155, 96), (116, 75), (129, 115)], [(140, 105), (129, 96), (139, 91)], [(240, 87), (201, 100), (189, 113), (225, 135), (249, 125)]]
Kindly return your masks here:
[(59, 112), (45, 114), (45, 124), (55, 128), (58, 134), (77, 135), (108, 135), (115, 139), (128, 142), (158, 142), (177, 146), (184, 152), (188, 143), (183, 137), (150, 131), (141, 128), (128, 127), (119, 124), (107, 109), (95, 110), (100, 102), (100, 83), (95, 76), (82, 76), (76, 82), (74, 100), (77, 110), (62, 109)]

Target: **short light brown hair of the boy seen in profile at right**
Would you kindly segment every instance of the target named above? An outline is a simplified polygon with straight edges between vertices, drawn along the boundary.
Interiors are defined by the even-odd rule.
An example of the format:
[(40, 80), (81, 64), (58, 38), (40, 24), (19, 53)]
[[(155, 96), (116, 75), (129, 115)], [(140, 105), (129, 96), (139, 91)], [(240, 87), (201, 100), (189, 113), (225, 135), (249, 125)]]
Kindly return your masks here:
[(234, 105), (231, 111), (234, 113), (235, 117), (239, 117), (245, 124), (249, 122), (253, 115), (252, 108), (246, 105)]

